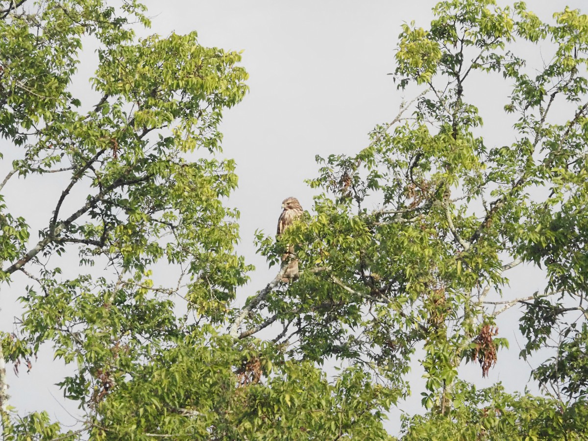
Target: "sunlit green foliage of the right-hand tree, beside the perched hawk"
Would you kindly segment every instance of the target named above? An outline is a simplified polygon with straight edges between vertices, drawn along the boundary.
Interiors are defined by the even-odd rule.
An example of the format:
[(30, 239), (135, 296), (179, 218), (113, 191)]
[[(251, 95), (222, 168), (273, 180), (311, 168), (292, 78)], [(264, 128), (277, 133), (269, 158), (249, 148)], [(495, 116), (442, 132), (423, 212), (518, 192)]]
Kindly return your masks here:
[[(420, 363), (429, 413), (406, 420), (409, 439), (577, 439), (588, 368), (588, 18), (565, 9), (542, 22), (522, 2), (492, 0), (440, 2), (434, 12), (429, 28), (406, 24), (399, 35), (394, 78), (415, 101), (357, 155), (318, 158), (318, 215), (285, 233), (300, 244), (303, 275), (268, 296), (269, 312), (302, 321), (292, 355), (351, 359), (405, 390)], [(530, 65), (537, 42), (542, 61)], [(483, 136), (483, 103), (467, 101), (486, 83), (510, 91), (513, 126), (500, 128), (510, 144)], [(495, 115), (485, 118), (498, 128)], [(489, 302), (521, 262), (545, 270), (545, 290)], [(500, 364), (508, 342), (496, 316), (512, 306), (524, 307), (521, 356), (557, 346), (540, 352), (553, 358), (532, 374), (559, 391), (553, 400), (469, 396), (459, 380), (463, 363), (480, 362), (482, 375)], [(517, 415), (530, 409), (542, 423)]]

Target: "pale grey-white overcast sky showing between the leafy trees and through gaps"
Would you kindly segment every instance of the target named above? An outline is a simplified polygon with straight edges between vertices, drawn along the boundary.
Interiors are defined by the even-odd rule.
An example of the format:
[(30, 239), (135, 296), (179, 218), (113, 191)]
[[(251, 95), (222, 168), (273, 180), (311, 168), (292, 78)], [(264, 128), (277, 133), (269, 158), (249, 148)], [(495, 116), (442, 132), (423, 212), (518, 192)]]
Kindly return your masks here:
[[(376, 123), (393, 119), (403, 98), (413, 98), (397, 91), (392, 76), (386, 74), (394, 70), (400, 25), (415, 20), (427, 26), (436, 1), (149, 0), (145, 4), (153, 21), (149, 33), (196, 30), (202, 45), (243, 51), (250, 92), (226, 112), (222, 130), (224, 155), (238, 164), (239, 189), (229, 205), (241, 212), (240, 252), (258, 267), (248, 289), (241, 292), (244, 298), (273, 276), (265, 259), (255, 255), (253, 232), (275, 232), (286, 196), (296, 196), (303, 208), (312, 209), (315, 192), (303, 181), (317, 175), (315, 155), (358, 152), (367, 145), (367, 133)], [(544, 19), (566, 5), (582, 9), (583, 4), (580, 0), (527, 1), (529, 9)], [(92, 72), (95, 66), (94, 54), (87, 56), (82, 72)], [(80, 81), (85, 81), (83, 76)], [(472, 93), (480, 93), (496, 108), (505, 99), (483, 85)], [(537, 273), (529, 269), (517, 269), (512, 280), (512, 289), (522, 295), (540, 288), (534, 285)], [(0, 300), (5, 309), (6, 295), (0, 295)], [(6, 319), (6, 310), (3, 313)], [(510, 389), (521, 390), (526, 384), (529, 370), (517, 360), (515, 331), (507, 330), (516, 328), (513, 320), (515, 310), (500, 320), (505, 330), (501, 336), (511, 340), (512, 350), (499, 353), (499, 366), (480, 385), (500, 379)], [(58, 404), (61, 400), (51, 396), (61, 397), (51, 383), (60, 379), (57, 374), (62, 368), (51, 365), (49, 359), (29, 375), (11, 377), (13, 405), (64, 414)], [(477, 366), (468, 369), (472, 378), (479, 378)], [(413, 376), (419, 375), (415, 362)], [(405, 410), (419, 407), (419, 392), (413, 390)], [(75, 412), (75, 406), (68, 409)], [(397, 415), (393, 413), (390, 423), (393, 432), (399, 428)]]

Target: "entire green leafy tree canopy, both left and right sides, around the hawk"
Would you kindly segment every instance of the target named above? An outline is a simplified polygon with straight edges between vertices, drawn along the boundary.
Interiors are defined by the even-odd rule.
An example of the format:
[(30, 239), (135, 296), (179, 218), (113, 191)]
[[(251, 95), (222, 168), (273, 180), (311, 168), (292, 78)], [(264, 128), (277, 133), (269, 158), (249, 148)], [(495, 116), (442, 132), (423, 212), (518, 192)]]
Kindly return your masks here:
[[(393, 439), (383, 421), (417, 363), (423, 415), (402, 439), (584, 439), (588, 17), (493, 0), (434, 13), (399, 35), (393, 79), (415, 98), (356, 155), (317, 157), (312, 212), (257, 235), (270, 265), (295, 244), (300, 278), (276, 265), (239, 308), (253, 268), (219, 123), (248, 91), (240, 55), (195, 32), (137, 38), (135, 0), (0, 1), (0, 135), (18, 158), (0, 183), (0, 282), (30, 279), (0, 334), (3, 439)], [(89, 41), (95, 102), (72, 89)], [(552, 53), (530, 65), (539, 43)], [(507, 91), (507, 143), (468, 101), (486, 82)], [(12, 211), (14, 175), (57, 179), (51, 212)], [(513, 297), (522, 263), (546, 286)], [(513, 306), (542, 396), (460, 375), (500, 363)], [(42, 345), (72, 366), (59, 386), (77, 427), (10, 405), (4, 363), (31, 369)], [(352, 367), (328, 375), (328, 360)]]

